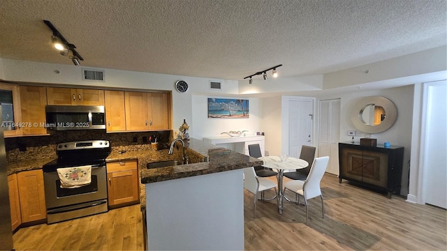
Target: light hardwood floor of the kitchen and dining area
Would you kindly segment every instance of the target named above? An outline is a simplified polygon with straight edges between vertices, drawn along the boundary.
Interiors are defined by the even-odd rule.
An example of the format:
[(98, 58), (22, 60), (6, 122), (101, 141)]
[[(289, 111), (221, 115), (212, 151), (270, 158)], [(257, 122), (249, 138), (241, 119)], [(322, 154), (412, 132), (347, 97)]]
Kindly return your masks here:
[[(279, 215), (276, 200), (258, 201), (244, 191), (245, 250), (447, 250), (445, 209), (405, 202), (402, 197), (338, 182), (325, 174), (321, 201), (305, 207), (286, 202)], [(266, 192), (266, 196), (270, 196)], [(288, 197), (293, 195), (288, 194)], [(16, 250), (142, 250), (138, 205), (99, 215), (20, 229)]]

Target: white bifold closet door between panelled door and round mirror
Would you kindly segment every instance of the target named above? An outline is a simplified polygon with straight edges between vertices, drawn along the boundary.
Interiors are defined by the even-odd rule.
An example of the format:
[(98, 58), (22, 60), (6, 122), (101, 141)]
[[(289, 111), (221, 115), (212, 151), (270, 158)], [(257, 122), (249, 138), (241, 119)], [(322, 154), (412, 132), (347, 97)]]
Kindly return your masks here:
[(318, 157), (329, 156), (326, 172), (339, 174), (340, 100), (319, 102)]

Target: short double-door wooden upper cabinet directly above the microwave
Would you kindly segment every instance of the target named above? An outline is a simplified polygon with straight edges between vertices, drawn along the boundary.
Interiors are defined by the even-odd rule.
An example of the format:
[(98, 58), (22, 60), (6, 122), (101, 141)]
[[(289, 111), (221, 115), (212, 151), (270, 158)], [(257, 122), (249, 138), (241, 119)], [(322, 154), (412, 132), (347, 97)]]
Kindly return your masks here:
[(104, 105), (104, 91), (47, 87), (48, 105)]

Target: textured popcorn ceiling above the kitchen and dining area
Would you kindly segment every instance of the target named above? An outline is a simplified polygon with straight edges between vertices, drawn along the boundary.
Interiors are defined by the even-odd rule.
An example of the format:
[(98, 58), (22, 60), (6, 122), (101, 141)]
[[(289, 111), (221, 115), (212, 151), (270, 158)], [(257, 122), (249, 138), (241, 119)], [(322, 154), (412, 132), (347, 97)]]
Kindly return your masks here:
[(361, 66), (446, 45), (446, 0), (1, 0), (0, 58), (243, 79)]

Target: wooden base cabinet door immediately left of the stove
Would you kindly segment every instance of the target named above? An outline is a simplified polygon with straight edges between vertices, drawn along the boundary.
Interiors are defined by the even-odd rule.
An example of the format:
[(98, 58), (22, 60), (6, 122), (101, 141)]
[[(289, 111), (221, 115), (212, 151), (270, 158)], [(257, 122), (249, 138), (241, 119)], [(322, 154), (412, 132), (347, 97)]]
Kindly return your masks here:
[(42, 169), (17, 173), (22, 223), (47, 218)]

